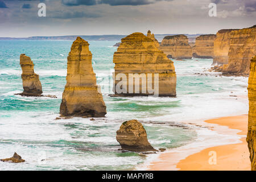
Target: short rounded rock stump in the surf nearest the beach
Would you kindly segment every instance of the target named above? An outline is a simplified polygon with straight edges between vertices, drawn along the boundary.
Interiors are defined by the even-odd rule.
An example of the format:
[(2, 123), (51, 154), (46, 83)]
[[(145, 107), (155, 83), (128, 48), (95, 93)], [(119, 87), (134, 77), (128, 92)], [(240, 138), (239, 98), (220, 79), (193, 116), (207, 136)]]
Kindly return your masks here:
[(120, 129), (117, 131), (117, 142), (122, 147), (122, 150), (129, 151), (157, 151), (147, 140), (147, 133), (142, 123), (137, 120), (123, 122)]

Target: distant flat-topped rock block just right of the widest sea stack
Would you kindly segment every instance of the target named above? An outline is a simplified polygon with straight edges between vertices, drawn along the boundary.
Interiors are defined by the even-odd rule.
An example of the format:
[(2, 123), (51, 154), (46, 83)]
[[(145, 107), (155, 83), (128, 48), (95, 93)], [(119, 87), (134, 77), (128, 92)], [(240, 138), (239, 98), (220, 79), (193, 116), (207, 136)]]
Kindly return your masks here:
[(160, 44), (160, 50), (169, 58), (192, 58), (192, 48), (185, 35), (165, 36)]

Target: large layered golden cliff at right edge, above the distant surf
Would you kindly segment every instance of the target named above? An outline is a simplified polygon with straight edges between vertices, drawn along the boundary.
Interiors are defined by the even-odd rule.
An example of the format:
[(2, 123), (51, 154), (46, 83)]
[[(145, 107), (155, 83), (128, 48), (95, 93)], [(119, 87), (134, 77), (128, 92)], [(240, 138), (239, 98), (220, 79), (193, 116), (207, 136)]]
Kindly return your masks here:
[(256, 55), (256, 25), (230, 32), (228, 67), (224, 73), (249, 75), (250, 59)]

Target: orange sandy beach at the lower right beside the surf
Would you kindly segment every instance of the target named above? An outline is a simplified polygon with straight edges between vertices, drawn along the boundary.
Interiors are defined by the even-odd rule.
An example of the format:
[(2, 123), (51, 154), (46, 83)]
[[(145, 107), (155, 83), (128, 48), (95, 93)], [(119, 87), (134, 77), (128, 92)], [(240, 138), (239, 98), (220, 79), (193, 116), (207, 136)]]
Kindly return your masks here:
[[(242, 135), (240, 139), (241, 143), (206, 148), (180, 160), (176, 168), (181, 171), (250, 170), (249, 150), (246, 143), (247, 119), (247, 115), (238, 115), (236, 117), (222, 117), (205, 121), (207, 123), (228, 126), (230, 129), (241, 130), (237, 133), (238, 135)], [(210, 156), (209, 152), (212, 152), (210, 154), (216, 154), (216, 163), (212, 160), (213, 158), (211, 157), (213, 155)], [(159, 156), (159, 160), (152, 162), (148, 168), (150, 170), (170, 170), (172, 168), (170, 168), (168, 162), (172, 161), (172, 158), (172, 153), (163, 153)]]

